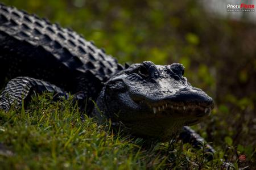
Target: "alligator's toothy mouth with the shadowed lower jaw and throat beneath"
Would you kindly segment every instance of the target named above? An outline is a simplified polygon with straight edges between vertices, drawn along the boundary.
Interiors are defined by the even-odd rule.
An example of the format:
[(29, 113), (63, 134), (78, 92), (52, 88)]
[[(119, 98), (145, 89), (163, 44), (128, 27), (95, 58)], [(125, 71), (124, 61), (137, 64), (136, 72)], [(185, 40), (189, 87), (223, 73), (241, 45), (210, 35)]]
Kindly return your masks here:
[[(133, 100), (134, 101), (134, 100)], [(191, 126), (203, 121), (213, 109), (213, 103), (177, 102), (170, 100), (136, 100), (136, 113), (122, 122), (139, 136), (168, 139), (183, 126)]]

